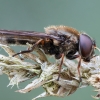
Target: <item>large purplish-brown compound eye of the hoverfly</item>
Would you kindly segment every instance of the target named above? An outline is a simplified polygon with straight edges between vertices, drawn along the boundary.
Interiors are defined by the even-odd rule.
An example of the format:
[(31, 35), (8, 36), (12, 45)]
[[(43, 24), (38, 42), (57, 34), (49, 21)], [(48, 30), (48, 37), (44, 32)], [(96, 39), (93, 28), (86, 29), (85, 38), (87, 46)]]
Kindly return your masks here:
[[(83, 58), (91, 57), (93, 54), (93, 41), (86, 34), (80, 34), (79, 38), (79, 53)], [(89, 58), (90, 58), (89, 57)]]

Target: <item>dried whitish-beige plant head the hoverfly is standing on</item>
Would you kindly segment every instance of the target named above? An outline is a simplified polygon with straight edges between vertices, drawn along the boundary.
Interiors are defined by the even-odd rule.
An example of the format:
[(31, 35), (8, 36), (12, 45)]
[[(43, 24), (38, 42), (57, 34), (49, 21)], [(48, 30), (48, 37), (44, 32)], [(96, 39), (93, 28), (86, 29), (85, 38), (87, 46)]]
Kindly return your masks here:
[(78, 59), (68, 60), (64, 58), (61, 76), (57, 81), (59, 74), (60, 60), (51, 63), (46, 55), (39, 48), (35, 48), (35, 53), (25, 53), (22, 56), (24, 59), (29, 59), (35, 63), (25, 62), (19, 56), (12, 57), (15, 52), (6, 45), (0, 45), (7, 53), (8, 57), (0, 54), (0, 74), (6, 74), (10, 80), (12, 87), (20, 82), (35, 79), (28, 84), (24, 89), (19, 89), (16, 92), (27, 93), (35, 88), (42, 86), (45, 90), (37, 98), (46, 96), (68, 96), (74, 93), (80, 87), (92, 85), (97, 91), (96, 99), (100, 98), (100, 56), (96, 56), (89, 63), (81, 64), (82, 82), (79, 81), (77, 71)]

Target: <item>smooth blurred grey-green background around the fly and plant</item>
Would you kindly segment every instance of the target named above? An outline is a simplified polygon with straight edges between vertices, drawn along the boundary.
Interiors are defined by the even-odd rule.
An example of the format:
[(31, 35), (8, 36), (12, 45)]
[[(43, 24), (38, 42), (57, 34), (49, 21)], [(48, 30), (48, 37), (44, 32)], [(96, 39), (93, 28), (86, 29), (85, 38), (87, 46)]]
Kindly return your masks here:
[[(68, 25), (85, 31), (96, 40), (100, 47), (100, 0), (0, 0), (0, 29), (33, 30), (43, 32), (49, 25)], [(14, 47), (15, 48), (15, 47)], [(20, 48), (16, 48), (20, 51)], [(3, 50), (0, 49), (3, 54)], [(19, 85), (26, 86), (28, 82)], [(7, 87), (6, 75), (0, 76), (0, 100), (31, 100), (43, 92), (42, 88), (27, 94), (14, 92)], [(46, 97), (39, 100), (94, 100), (92, 87), (78, 89), (74, 94), (64, 97)]]

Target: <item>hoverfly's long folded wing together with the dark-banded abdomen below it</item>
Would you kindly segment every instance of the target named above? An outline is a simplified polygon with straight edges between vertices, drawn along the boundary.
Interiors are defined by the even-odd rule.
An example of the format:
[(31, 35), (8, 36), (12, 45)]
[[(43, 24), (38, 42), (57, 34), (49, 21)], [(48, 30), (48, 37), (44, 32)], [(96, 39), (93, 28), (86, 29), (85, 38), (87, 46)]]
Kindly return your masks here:
[(33, 44), (36, 43), (38, 40), (45, 38), (61, 41), (61, 39), (57, 36), (42, 32), (0, 30), (0, 43), (3, 44), (25, 45), (27, 42)]

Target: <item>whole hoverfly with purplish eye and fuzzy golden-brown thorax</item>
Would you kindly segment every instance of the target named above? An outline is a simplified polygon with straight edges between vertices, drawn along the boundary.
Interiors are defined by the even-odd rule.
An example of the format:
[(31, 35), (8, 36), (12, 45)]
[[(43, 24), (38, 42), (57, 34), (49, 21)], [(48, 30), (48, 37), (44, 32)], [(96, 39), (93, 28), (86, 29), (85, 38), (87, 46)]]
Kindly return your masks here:
[(54, 55), (56, 59), (61, 58), (58, 79), (60, 77), (64, 56), (70, 60), (78, 57), (80, 58), (77, 69), (79, 77), (81, 78), (79, 70), (81, 59), (85, 62), (89, 62), (94, 56), (94, 49), (96, 48), (95, 41), (87, 34), (80, 33), (72, 27), (63, 25), (46, 27), (44, 33), (35, 31), (0, 30), (0, 42), (17, 45), (26, 45), (28, 42), (33, 45), (29, 50), (21, 51), (13, 56), (30, 53), (38, 46), (45, 54)]

